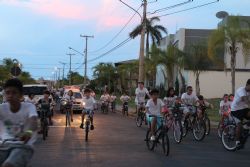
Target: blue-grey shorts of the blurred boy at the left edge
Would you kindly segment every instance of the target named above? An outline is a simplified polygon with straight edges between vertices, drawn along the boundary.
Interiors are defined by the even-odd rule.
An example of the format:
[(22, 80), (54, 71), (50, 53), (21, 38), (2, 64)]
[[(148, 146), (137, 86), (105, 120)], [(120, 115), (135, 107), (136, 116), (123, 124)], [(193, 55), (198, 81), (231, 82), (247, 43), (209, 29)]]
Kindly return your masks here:
[(6, 146), (0, 147), (0, 166), (3, 164), (12, 164), (14, 167), (25, 167), (33, 155), (33, 149), (29, 146), (26, 148), (13, 148)]

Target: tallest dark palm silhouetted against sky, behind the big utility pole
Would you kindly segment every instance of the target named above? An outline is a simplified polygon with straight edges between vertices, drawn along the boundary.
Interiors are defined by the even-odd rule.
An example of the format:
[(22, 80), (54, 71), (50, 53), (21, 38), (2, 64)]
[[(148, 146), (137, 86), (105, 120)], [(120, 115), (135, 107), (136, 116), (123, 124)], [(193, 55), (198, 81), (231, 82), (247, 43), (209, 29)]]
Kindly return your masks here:
[[(167, 29), (161, 25), (154, 25), (155, 22), (160, 21), (159, 17), (152, 17), (150, 19), (146, 19), (146, 57), (149, 57), (149, 36), (151, 37), (153, 44), (159, 44), (162, 39), (162, 33), (167, 34)], [(135, 27), (135, 29), (129, 33), (131, 38), (135, 38), (141, 34), (143, 25), (140, 24)]]

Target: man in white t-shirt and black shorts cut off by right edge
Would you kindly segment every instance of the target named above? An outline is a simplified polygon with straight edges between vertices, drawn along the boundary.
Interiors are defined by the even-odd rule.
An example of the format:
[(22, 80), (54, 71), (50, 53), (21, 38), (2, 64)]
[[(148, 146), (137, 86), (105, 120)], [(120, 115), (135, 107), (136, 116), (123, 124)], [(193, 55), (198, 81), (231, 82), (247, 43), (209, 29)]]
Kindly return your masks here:
[[(250, 120), (250, 79), (247, 80), (245, 87), (237, 89), (234, 101), (231, 105), (231, 115), (237, 124), (236, 146), (241, 148), (240, 136), (242, 131), (242, 120)], [(248, 125), (249, 126), (249, 125)]]

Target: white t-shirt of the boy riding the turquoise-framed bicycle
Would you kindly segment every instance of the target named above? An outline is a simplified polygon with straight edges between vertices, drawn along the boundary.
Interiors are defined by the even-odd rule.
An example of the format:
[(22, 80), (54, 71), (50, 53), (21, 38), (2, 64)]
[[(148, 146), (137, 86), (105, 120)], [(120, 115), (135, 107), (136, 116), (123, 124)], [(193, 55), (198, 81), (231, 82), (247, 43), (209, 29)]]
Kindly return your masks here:
[(163, 106), (164, 106), (164, 103), (162, 102), (161, 99), (157, 99), (156, 105), (152, 99), (148, 100), (146, 104), (146, 108), (148, 109), (148, 114), (157, 115), (157, 116), (161, 115), (161, 109)]

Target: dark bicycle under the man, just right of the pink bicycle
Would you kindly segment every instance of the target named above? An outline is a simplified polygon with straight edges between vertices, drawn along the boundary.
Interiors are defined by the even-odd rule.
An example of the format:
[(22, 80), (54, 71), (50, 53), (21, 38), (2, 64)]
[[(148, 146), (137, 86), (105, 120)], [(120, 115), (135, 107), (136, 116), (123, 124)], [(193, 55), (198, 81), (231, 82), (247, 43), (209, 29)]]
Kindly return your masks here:
[(188, 117), (184, 120), (182, 136), (186, 137), (188, 134), (188, 131), (192, 131), (194, 139), (196, 141), (202, 141), (206, 136), (206, 123), (204, 119), (198, 118), (197, 107), (196, 107), (196, 112), (192, 114), (192, 117), (193, 117), (192, 120), (190, 117), (191, 115), (188, 115)]

